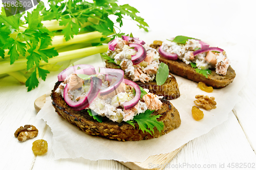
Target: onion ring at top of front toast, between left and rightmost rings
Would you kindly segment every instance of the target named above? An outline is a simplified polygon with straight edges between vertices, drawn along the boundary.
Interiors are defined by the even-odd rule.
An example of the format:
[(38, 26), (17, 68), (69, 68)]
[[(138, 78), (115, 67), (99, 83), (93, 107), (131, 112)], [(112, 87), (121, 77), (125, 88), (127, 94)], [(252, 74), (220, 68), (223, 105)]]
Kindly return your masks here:
[(109, 86), (108, 88), (101, 90), (99, 93), (100, 95), (106, 95), (111, 93), (112, 91), (114, 91), (115, 89), (117, 89), (117, 87), (122, 83), (123, 81), (123, 75), (124, 72), (121, 69), (114, 69), (114, 68), (103, 68), (103, 67), (99, 67), (98, 74), (105, 74), (105, 75), (113, 75), (117, 77), (117, 80), (114, 84), (112, 84), (111, 86)]

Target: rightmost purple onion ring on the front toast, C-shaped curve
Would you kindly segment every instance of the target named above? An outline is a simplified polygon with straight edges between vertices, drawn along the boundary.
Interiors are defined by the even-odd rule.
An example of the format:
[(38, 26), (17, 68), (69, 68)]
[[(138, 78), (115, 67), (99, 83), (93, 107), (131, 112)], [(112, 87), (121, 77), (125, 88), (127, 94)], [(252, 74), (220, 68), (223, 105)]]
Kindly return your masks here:
[(136, 91), (136, 95), (131, 101), (123, 103), (124, 109), (128, 110), (128, 109), (132, 109), (135, 105), (139, 103), (141, 91), (140, 91), (140, 87), (133, 81), (127, 80), (127, 79), (123, 79), (123, 81), (125, 84), (132, 86)]

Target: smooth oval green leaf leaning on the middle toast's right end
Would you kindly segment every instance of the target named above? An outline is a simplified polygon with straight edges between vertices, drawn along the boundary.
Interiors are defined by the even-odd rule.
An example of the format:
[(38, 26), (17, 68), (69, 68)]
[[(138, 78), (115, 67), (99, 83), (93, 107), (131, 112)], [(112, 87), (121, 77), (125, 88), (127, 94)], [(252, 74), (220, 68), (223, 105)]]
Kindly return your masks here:
[(169, 67), (164, 63), (160, 63), (159, 68), (157, 70), (156, 82), (158, 86), (161, 86), (166, 81), (169, 75)]

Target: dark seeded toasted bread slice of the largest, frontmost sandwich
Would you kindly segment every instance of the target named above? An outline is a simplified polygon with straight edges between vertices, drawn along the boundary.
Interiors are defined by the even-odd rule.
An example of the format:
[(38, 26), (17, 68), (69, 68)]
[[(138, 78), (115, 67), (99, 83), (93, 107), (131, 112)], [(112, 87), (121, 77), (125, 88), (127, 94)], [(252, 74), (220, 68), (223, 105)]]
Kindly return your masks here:
[(164, 123), (164, 129), (160, 133), (156, 127), (154, 128), (155, 133), (153, 135), (149, 133), (143, 133), (139, 130), (139, 126), (135, 123), (135, 128), (125, 122), (120, 124), (112, 122), (109, 118), (104, 117), (102, 123), (93, 119), (87, 112), (87, 110), (75, 111), (70, 108), (65, 100), (55, 90), (61, 82), (57, 82), (51, 93), (52, 105), (55, 111), (68, 120), (69, 123), (77, 126), (83, 132), (93, 135), (100, 136), (103, 138), (119, 140), (119, 141), (138, 141), (152, 139), (166, 134), (175, 128), (178, 128), (181, 124), (181, 119), (178, 110), (166, 100), (161, 99), (163, 105), (160, 110), (154, 111), (153, 115), (162, 115), (157, 120)]

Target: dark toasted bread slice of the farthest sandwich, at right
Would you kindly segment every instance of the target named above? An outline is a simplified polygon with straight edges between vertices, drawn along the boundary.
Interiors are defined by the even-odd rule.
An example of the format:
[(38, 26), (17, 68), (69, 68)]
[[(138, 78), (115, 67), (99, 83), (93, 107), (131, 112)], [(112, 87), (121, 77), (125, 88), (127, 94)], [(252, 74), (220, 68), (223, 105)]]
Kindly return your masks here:
[[(159, 45), (157, 44), (151, 44), (150, 46), (155, 49), (159, 48)], [(206, 78), (202, 74), (196, 72), (195, 68), (192, 68), (190, 64), (186, 64), (179, 59), (168, 60), (162, 57), (160, 54), (159, 56), (159, 61), (168, 65), (169, 71), (172, 72), (172, 74), (181, 76), (197, 83), (204, 82), (207, 86), (211, 86), (213, 88), (226, 87), (234, 80), (234, 77), (236, 77), (236, 72), (234, 72), (231, 66), (228, 67), (227, 74), (225, 76), (217, 74), (215, 69), (210, 69), (211, 74), (207, 75)]]

